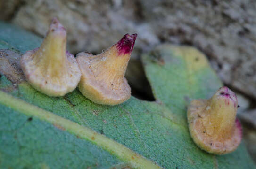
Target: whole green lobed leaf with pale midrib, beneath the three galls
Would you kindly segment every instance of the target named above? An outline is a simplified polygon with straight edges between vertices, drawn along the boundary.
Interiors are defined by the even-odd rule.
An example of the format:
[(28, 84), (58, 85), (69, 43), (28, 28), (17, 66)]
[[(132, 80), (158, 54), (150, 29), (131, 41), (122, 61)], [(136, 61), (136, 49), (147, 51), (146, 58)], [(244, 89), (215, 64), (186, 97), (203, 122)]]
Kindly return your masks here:
[[(22, 54), (40, 44), (41, 38), (0, 23), (0, 48)], [(77, 89), (48, 97), (1, 71), (0, 168), (255, 169), (243, 143), (218, 156), (190, 138), (187, 104), (222, 85), (203, 54), (163, 45), (144, 54), (143, 63), (156, 101), (131, 97), (117, 106), (94, 104)]]

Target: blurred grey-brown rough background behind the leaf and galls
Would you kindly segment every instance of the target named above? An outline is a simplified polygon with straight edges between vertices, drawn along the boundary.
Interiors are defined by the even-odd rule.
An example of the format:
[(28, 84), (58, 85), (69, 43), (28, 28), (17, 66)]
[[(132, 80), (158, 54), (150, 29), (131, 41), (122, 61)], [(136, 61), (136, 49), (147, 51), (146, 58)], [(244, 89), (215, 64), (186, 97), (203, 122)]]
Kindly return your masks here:
[(138, 33), (126, 77), (132, 94), (144, 100), (154, 98), (142, 53), (167, 42), (198, 48), (237, 93), (244, 140), (256, 162), (256, 0), (0, 0), (0, 11), (0, 20), (41, 37), (56, 16), (73, 54), (99, 54), (124, 34)]

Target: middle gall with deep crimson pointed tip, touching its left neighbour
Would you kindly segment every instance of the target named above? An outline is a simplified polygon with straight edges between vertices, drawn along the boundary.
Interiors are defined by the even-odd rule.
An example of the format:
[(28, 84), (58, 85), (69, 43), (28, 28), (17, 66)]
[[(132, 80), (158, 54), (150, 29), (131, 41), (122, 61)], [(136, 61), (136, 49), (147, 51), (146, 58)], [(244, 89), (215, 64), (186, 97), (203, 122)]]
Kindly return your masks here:
[(131, 97), (124, 77), (137, 34), (126, 34), (115, 45), (98, 55), (81, 52), (76, 60), (81, 70), (78, 88), (91, 101), (117, 105)]

